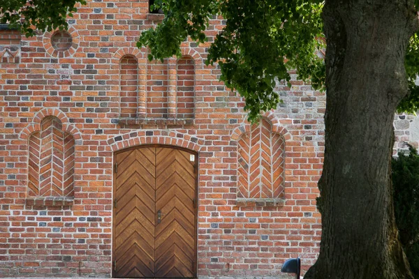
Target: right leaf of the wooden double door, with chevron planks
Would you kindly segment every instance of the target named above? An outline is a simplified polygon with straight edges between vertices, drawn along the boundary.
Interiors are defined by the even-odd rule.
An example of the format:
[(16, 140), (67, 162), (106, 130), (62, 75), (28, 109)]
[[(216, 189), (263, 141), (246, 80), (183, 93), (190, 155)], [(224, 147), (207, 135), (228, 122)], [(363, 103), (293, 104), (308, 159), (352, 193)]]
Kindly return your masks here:
[[(193, 277), (195, 169), (189, 153), (156, 149), (156, 277)], [(164, 215), (163, 215), (164, 214)]]

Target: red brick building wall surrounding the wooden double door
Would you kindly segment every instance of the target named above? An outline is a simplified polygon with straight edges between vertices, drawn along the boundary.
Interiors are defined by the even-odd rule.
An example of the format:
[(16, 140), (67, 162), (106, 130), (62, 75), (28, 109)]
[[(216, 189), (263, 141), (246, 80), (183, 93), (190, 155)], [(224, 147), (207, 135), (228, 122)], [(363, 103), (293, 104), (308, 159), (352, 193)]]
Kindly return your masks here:
[[(203, 63), (208, 45), (185, 42), (182, 59), (147, 61), (135, 43), (161, 20), (147, 10), (145, 0), (88, 1), (68, 20), (71, 47), (57, 47), (54, 38), (63, 35), (54, 32), (22, 37), (15, 48), (18, 40), (1, 41), (0, 53), (15, 56), (0, 63), (0, 277), (109, 277), (113, 153), (140, 144), (198, 152), (201, 278), (279, 276), (284, 260), (297, 255), (304, 269), (314, 264), (324, 93), (295, 73), (291, 88), (278, 84), (284, 104), (265, 114), (261, 127), (269, 129), (261, 133), (269, 130), (270, 152), (283, 152), (277, 161), (248, 164), (267, 162), (270, 188), (243, 195), (252, 192), (240, 181), (240, 152), (263, 143), (247, 138), (254, 129), (242, 99), (218, 81), (216, 66)], [(211, 41), (222, 20), (210, 23)], [(46, 157), (60, 154), (52, 163), (64, 169), (56, 167), (59, 182), (44, 185), (52, 178), (41, 178), (48, 144)]]

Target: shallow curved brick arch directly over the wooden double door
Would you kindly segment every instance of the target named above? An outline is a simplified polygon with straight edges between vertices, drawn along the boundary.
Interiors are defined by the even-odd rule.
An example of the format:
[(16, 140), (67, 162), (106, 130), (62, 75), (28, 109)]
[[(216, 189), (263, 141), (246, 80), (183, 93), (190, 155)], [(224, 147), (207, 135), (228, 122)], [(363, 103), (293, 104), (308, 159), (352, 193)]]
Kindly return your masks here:
[(194, 137), (193, 135), (164, 130), (140, 130), (133, 133), (117, 135), (108, 140), (108, 144), (112, 151), (118, 151), (142, 144), (162, 144), (179, 146), (198, 152), (202, 151), (204, 142), (203, 139)]

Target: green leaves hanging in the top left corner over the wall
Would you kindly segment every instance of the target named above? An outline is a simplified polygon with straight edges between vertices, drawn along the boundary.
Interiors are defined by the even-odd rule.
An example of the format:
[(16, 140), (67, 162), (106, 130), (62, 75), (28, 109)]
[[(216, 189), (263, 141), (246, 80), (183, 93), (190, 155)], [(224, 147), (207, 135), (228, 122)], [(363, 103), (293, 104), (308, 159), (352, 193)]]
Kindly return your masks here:
[(75, 3), (84, 0), (0, 0), (0, 23), (20, 29), (26, 36), (34, 36), (36, 30), (66, 29), (67, 15), (77, 9)]

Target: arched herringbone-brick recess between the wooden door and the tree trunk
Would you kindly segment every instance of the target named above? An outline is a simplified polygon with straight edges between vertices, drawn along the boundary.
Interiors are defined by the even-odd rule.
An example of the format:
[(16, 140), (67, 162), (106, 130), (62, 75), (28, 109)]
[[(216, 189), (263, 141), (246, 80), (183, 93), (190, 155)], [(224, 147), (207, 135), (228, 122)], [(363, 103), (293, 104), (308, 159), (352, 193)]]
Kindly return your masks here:
[(284, 197), (284, 138), (272, 133), (267, 119), (238, 142), (238, 197)]

